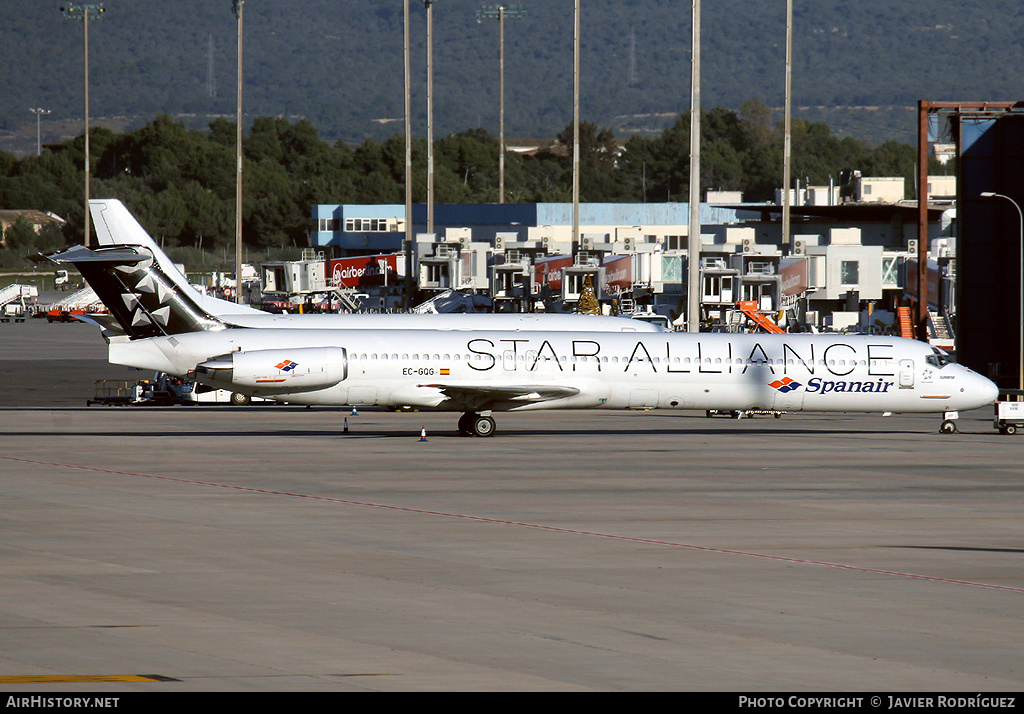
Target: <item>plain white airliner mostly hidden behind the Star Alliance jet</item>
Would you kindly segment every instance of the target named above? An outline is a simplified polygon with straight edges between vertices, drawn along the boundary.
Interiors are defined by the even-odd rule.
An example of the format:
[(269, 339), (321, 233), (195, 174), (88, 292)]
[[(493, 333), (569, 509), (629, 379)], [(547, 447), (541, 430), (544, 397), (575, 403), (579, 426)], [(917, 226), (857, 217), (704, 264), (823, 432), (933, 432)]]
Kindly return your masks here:
[(402, 330), (585, 330), (587, 332), (664, 332), (652, 323), (630, 318), (582, 314), (541, 314), (488, 312), (468, 314), (271, 314), (248, 305), (204, 295), (196, 290), (174, 262), (116, 199), (89, 201), (96, 242), (100, 246), (137, 246), (147, 250), (156, 262), (155, 270), (200, 308), (236, 327), (280, 329), (402, 329)]

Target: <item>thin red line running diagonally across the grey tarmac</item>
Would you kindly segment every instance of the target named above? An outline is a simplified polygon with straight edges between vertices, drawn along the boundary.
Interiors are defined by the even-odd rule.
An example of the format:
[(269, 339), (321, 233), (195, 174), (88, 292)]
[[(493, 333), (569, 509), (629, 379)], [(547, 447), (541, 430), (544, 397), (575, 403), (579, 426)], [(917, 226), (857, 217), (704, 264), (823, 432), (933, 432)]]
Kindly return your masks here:
[(673, 541), (659, 541), (649, 538), (637, 538), (635, 536), (620, 536), (610, 533), (598, 533), (595, 531), (580, 531), (577, 529), (560, 528), (558, 526), (543, 526), (540, 523), (527, 523), (516, 520), (504, 520), (502, 518), (487, 518), (485, 516), (479, 515), (466, 515), (465, 513), (447, 513), (444, 511), (433, 511), (423, 508), (412, 508), (410, 506), (394, 506), (386, 503), (371, 503), (368, 501), (353, 501), (343, 498), (334, 498), (331, 496), (310, 496), (309, 494), (296, 494), (288, 491), (271, 491), (267, 489), (254, 489), (249, 486), (230, 486), (228, 484), (215, 484), (213, 481), (201, 481), (189, 478), (178, 478), (176, 476), (158, 476), (153, 473), (137, 473), (134, 471), (117, 471), (114, 469), (97, 468), (95, 466), (80, 466), (78, 464), (63, 464), (50, 461), (34, 461), (32, 459), (18, 459), (12, 456), (0, 456), (0, 460), (4, 461), (15, 461), (25, 464), (36, 464), (39, 466), (56, 466), (59, 468), (76, 469), (80, 471), (93, 471), (96, 473), (110, 473), (113, 475), (120, 476), (134, 476), (136, 478), (152, 478), (155, 480), (165, 480), (173, 481), (175, 484), (186, 484), (188, 486), (206, 486), (214, 489), (228, 489), (232, 491), (242, 491), (251, 494), (262, 494), (265, 496), (286, 496), (289, 498), (301, 498), (310, 501), (324, 501), (328, 503), (340, 503), (349, 506), (362, 506), (366, 508), (381, 508), (384, 510), (392, 511), (402, 511), (406, 513), (417, 513), (420, 515), (432, 515), (444, 518), (458, 518), (460, 520), (474, 520), (481, 523), (495, 523), (498, 526), (512, 526), (515, 528), (527, 528), (537, 531), (549, 531), (552, 533), (564, 533), (573, 536), (590, 536), (593, 538), (607, 538), (615, 541), (627, 541), (630, 543), (643, 543), (645, 545), (658, 545), (671, 548), (683, 548), (686, 550), (696, 550), (706, 553), (719, 553), (723, 555), (742, 555), (745, 557), (760, 558), (763, 560), (772, 560), (776, 562), (791, 562), (794, 564), (801, 565), (819, 565), (822, 568), (835, 568), (843, 571), (852, 571), (856, 573), (869, 573), (872, 575), (884, 575), (893, 578), (906, 578), (910, 580), (924, 580), (933, 583), (945, 583), (947, 585), (967, 585), (974, 588), (984, 588), (987, 590), (1002, 590), (1005, 592), (1017, 592), (1024, 594), (1024, 588), (1015, 588), (1009, 585), (992, 585), (991, 583), (978, 583), (970, 580), (955, 580), (951, 578), (939, 578), (937, 576), (927, 576), (919, 575), (915, 573), (901, 573), (899, 571), (885, 571), (874, 568), (863, 568), (860, 565), (847, 565), (841, 562), (829, 562), (827, 560), (811, 560), (808, 558), (795, 558), (786, 555), (771, 555), (768, 553), (753, 553), (743, 550), (732, 550), (728, 548), (715, 548), (712, 546), (705, 545), (693, 545), (692, 543), (676, 543)]

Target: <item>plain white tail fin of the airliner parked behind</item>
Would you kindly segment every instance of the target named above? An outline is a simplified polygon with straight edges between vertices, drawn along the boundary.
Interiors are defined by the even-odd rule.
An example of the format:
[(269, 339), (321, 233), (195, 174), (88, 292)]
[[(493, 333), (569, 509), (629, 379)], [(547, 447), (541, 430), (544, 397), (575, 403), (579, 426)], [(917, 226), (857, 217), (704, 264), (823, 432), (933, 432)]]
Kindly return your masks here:
[(137, 246), (146, 249), (164, 276), (197, 305), (211, 314), (255, 314), (259, 310), (228, 300), (204, 295), (196, 290), (174, 262), (160, 249), (135, 216), (117, 199), (91, 199), (89, 212), (100, 246)]

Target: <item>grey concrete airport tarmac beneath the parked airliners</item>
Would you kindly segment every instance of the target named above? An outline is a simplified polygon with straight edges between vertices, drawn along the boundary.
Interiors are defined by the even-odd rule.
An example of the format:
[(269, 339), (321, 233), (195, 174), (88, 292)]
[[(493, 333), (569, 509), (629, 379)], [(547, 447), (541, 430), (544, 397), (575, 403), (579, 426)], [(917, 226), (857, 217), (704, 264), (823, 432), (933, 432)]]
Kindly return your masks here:
[(453, 414), (86, 408), (124, 374), (94, 328), (0, 346), (0, 690), (1024, 685), (1024, 439), (990, 410), (465, 438)]

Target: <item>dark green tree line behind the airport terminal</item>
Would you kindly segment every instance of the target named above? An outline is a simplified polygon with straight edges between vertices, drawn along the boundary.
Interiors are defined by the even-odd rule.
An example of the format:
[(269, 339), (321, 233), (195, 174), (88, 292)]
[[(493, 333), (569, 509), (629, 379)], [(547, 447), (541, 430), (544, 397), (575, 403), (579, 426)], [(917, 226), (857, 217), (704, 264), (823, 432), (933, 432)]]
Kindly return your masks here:
[[(167, 116), (125, 133), (90, 132), (91, 196), (117, 198), (166, 247), (213, 251), (234, 242), (236, 125), (216, 119), (207, 131)], [(760, 101), (739, 111), (701, 115), (701, 188), (740, 191), (770, 201), (781, 185), (782, 132)], [(813, 184), (863, 175), (914, 175), (915, 150), (888, 141), (871, 148), (834, 136), (821, 123), (793, 122), (793, 176)], [(307, 120), (256, 119), (243, 138), (243, 240), (254, 249), (308, 245), (316, 204), (404, 203), (404, 137), (366, 139), (357, 146), (319, 138)], [(46, 148), (41, 156), (0, 153), (0, 207), (50, 211), (60, 232), (8, 230), (7, 251), (52, 250), (82, 241), (84, 137)], [(499, 140), (469, 129), (435, 140), (435, 202), (497, 203)], [(571, 200), (572, 130), (536, 153), (508, 152), (506, 202)], [(659, 135), (621, 141), (583, 122), (581, 200), (591, 203), (685, 202), (689, 192), (689, 117)], [(413, 200), (426, 200), (427, 151), (413, 143)], [(912, 185), (908, 182), (908, 186)]]

